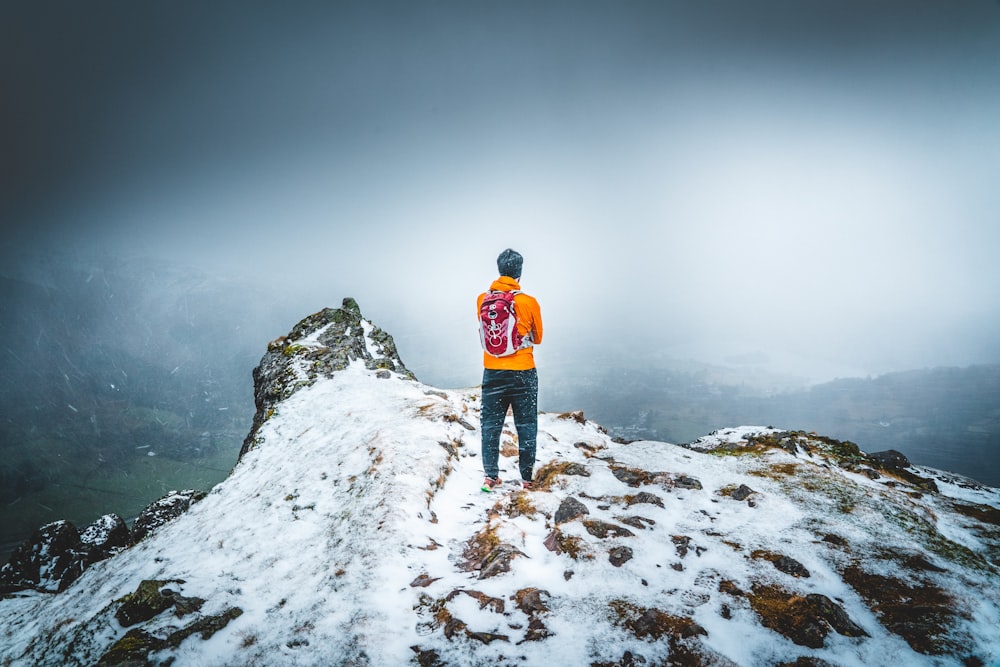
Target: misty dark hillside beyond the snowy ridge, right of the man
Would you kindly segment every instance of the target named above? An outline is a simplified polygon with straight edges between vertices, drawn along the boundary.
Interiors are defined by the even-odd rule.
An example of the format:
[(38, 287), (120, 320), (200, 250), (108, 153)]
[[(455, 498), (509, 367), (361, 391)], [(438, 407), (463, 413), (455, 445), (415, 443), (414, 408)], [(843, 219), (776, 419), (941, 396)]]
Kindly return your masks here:
[[(765, 395), (703, 370), (593, 371), (552, 391), (622, 437), (684, 443), (736, 424), (816, 431), (1000, 486), (1000, 366), (835, 380)], [(550, 398), (550, 401), (553, 399)]]

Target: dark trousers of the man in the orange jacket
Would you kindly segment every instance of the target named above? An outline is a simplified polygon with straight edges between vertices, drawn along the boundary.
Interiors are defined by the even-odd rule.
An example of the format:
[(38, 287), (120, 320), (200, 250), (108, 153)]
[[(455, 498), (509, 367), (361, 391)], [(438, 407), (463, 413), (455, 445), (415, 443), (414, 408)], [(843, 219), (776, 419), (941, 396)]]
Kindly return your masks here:
[(483, 472), (496, 479), (500, 475), (500, 435), (507, 408), (514, 413), (517, 429), (517, 459), (521, 479), (530, 481), (535, 468), (535, 441), (538, 437), (538, 373), (526, 371), (483, 371)]

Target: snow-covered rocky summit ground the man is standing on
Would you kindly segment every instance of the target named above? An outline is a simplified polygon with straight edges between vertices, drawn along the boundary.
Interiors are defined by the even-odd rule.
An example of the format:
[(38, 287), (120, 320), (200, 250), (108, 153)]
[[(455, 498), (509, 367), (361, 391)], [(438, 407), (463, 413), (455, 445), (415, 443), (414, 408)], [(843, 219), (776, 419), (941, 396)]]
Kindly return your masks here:
[[(540, 415), (539, 490), (484, 494), (478, 424), (475, 389), (362, 360), (301, 383), (186, 514), (64, 593), (0, 602), (0, 664), (116, 664), (137, 628), (177, 666), (1000, 661), (995, 489), (917, 470), (924, 492), (756, 427), (617, 443), (575, 413)], [(588, 513), (557, 524), (568, 499)], [(115, 614), (144, 580), (204, 602), (128, 635)], [(947, 621), (928, 646), (876, 595), (896, 581), (940, 592), (910, 602)], [(783, 627), (821, 599), (849, 621)], [(218, 622), (177, 634), (198, 619)]]

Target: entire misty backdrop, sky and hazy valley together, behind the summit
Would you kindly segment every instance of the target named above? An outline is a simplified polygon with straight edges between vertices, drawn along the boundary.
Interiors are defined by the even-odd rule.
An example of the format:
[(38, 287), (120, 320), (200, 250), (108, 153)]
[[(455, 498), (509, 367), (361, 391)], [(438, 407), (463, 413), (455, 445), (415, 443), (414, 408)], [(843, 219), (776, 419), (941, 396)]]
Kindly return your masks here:
[(223, 478), (346, 296), (478, 384), (506, 247), (543, 410), (1000, 475), (994, 1), (8, 2), (0, 63), (0, 546)]

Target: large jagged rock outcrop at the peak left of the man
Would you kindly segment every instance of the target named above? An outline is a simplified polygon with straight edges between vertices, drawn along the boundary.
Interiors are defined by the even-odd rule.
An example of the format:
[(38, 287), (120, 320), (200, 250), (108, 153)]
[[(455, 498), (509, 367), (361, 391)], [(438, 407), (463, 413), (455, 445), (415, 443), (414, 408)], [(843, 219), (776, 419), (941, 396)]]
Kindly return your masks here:
[(240, 458), (253, 449), (257, 431), (278, 403), (358, 360), (373, 371), (416, 379), (399, 358), (392, 336), (363, 319), (358, 302), (350, 297), (340, 308), (324, 308), (296, 324), (287, 336), (272, 341), (253, 370), (257, 411)]

